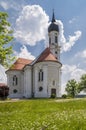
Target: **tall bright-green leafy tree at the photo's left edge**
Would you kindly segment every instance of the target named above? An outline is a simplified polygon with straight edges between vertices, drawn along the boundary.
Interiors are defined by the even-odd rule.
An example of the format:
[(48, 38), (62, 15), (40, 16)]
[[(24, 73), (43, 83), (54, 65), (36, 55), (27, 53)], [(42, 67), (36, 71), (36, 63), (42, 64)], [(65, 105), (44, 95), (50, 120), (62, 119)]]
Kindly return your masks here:
[(10, 44), (13, 40), (12, 30), (7, 18), (7, 13), (0, 12), (0, 64), (5, 67), (8, 67), (14, 59), (12, 45)]

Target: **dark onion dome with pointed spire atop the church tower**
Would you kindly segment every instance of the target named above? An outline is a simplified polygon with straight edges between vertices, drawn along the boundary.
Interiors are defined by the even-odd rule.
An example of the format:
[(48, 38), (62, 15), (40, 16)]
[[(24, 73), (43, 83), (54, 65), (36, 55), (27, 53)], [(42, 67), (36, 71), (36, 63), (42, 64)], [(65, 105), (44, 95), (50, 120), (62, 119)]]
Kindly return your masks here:
[(57, 22), (55, 20), (54, 12), (53, 12), (51, 24), (48, 27), (48, 32), (50, 33), (51, 31), (59, 32), (59, 26), (58, 26), (58, 24), (57, 24)]

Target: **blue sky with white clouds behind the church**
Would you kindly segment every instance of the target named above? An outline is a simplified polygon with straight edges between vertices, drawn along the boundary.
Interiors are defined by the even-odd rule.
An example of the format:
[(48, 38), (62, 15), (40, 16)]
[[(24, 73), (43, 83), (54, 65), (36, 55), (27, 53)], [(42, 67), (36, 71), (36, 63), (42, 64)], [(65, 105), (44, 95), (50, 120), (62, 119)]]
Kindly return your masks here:
[(48, 46), (53, 9), (60, 26), (63, 92), (69, 79), (78, 81), (86, 73), (86, 0), (0, 0), (0, 11), (8, 13), (14, 30), (12, 44), (17, 57), (34, 59)]

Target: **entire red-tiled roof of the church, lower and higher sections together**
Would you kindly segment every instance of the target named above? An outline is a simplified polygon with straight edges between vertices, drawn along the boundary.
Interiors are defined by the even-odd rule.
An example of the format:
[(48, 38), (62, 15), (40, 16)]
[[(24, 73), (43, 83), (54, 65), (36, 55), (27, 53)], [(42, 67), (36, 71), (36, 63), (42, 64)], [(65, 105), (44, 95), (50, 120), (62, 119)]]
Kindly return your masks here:
[(7, 71), (10, 71), (10, 70), (22, 70), (26, 65), (34, 65), (34, 64), (36, 64), (38, 62), (44, 62), (44, 61), (59, 62), (58, 59), (50, 51), (50, 48), (48, 47), (34, 61), (24, 59), (24, 58), (18, 58), (16, 60), (16, 62)]

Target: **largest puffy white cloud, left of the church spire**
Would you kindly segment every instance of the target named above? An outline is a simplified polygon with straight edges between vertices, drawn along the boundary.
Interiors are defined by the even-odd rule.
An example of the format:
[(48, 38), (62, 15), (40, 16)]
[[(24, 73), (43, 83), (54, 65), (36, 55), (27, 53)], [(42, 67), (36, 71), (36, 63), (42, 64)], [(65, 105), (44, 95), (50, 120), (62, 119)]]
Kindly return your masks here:
[(48, 20), (49, 17), (39, 5), (24, 6), (16, 20), (15, 38), (23, 44), (36, 45), (46, 39)]

